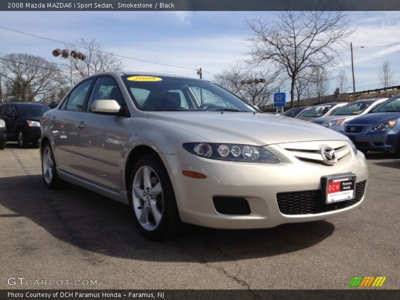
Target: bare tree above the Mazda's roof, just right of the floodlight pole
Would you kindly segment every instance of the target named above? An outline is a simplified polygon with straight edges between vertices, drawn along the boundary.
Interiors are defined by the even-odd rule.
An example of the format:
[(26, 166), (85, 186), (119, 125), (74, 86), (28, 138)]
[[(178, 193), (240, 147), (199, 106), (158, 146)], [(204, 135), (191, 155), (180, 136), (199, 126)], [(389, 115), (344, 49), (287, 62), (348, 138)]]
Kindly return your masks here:
[[(105, 51), (103, 46), (94, 38), (81, 38), (78, 45), (82, 48), (83, 54), (86, 55), (83, 61), (72, 62), (74, 73), (79, 79), (98, 72), (120, 71), (125, 67), (121, 58), (115, 56), (112, 52)], [(68, 45), (65, 46), (68, 47)]]

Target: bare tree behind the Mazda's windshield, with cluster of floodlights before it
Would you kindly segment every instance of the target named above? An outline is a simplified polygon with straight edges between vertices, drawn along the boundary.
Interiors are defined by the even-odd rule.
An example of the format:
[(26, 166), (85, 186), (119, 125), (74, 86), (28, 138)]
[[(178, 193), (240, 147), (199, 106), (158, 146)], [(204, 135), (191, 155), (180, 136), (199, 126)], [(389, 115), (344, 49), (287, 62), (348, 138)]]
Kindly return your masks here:
[[(258, 82), (262, 78), (265, 82)], [(240, 84), (242, 80), (253, 79), (250, 84)], [(257, 83), (254, 82), (254, 79)], [(226, 88), (252, 105), (264, 107), (276, 89), (276, 74), (268, 71), (255, 71), (242, 67), (239, 63), (217, 74), (214, 82)]]

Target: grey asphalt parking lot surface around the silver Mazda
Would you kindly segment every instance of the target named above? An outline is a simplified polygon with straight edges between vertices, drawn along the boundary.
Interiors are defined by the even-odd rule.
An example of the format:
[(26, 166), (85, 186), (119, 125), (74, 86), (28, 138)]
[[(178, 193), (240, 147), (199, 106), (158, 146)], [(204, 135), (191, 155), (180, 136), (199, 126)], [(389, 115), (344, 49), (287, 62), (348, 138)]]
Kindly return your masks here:
[[(50, 288), (349, 288), (352, 276), (400, 282), (400, 159), (367, 154), (364, 206), (260, 230), (192, 227), (151, 242), (127, 206), (70, 185), (47, 190), (37, 148), (0, 151), (0, 288), (9, 277), (97, 280)], [(45, 288), (45, 286), (22, 286)]]

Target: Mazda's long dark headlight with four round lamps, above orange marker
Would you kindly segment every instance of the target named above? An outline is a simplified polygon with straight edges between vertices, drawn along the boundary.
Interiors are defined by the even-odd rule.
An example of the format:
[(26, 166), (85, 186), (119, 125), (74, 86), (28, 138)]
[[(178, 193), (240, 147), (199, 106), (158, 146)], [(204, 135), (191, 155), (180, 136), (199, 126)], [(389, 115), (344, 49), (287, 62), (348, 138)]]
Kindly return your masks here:
[(197, 156), (232, 161), (278, 163), (271, 152), (262, 147), (214, 142), (186, 142), (183, 148)]

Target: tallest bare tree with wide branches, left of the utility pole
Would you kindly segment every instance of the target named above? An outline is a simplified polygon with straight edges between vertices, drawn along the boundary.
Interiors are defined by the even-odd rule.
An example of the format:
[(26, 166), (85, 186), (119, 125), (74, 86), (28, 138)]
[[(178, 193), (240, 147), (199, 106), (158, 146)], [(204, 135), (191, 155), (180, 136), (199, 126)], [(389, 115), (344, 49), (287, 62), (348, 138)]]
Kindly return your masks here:
[(298, 74), (318, 66), (333, 65), (340, 56), (338, 44), (353, 30), (348, 14), (342, 11), (282, 11), (277, 21), (247, 21), (252, 30), (251, 62), (275, 63), (290, 79), (290, 106), (293, 107)]

